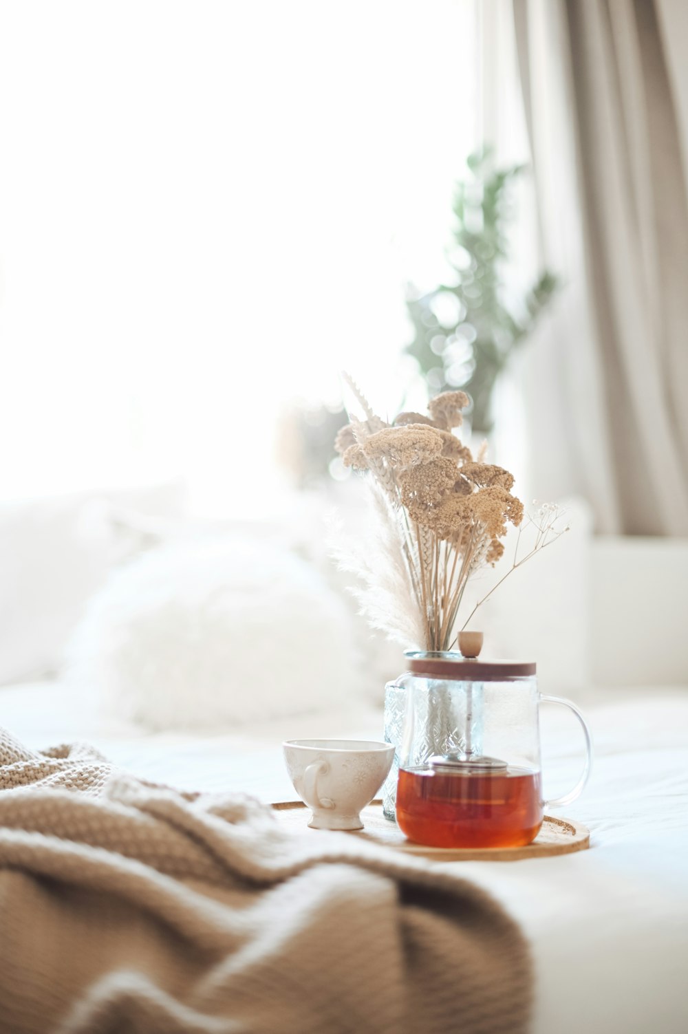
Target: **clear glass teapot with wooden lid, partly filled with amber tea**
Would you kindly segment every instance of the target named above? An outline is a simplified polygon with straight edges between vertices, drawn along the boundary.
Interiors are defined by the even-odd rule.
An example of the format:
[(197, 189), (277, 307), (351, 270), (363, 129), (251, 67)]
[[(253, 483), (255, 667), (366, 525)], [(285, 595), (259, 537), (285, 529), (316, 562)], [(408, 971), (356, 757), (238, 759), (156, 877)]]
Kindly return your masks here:
[[(535, 664), (408, 653), (410, 671), (387, 686), (385, 738), (396, 748), (385, 784), (387, 818), (432, 847), (516, 847), (535, 840), (544, 809), (581, 792), (592, 763), (586, 720), (569, 700), (538, 693)], [(586, 764), (570, 793), (544, 801), (539, 704), (576, 716)], [(394, 799), (395, 798), (395, 799)]]

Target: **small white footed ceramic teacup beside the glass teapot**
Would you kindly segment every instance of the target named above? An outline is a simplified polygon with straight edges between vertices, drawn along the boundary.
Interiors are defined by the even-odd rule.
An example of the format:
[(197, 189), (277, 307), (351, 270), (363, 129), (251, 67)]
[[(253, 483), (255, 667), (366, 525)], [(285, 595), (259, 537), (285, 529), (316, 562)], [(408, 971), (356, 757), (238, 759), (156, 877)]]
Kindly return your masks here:
[(369, 804), (392, 766), (394, 748), (367, 739), (288, 739), (282, 743), (294, 789), (312, 812), (312, 829), (362, 829)]

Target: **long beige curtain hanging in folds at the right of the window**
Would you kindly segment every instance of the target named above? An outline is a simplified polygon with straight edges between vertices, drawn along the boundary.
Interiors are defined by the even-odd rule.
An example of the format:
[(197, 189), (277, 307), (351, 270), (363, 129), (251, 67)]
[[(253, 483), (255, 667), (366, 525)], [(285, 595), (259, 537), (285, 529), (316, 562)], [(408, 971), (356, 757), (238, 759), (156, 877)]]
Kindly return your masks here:
[(513, 17), (572, 487), (599, 530), (688, 536), (688, 194), (656, 4)]

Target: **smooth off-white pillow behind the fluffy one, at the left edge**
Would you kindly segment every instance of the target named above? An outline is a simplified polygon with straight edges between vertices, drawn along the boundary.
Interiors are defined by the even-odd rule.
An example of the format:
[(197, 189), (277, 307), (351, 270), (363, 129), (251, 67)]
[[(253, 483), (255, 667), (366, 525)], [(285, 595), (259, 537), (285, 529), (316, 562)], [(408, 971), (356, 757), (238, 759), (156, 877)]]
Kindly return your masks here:
[(111, 506), (172, 516), (178, 482), (0, 504), (0, 685), (54, 671), (91, 594), (136, 547)]

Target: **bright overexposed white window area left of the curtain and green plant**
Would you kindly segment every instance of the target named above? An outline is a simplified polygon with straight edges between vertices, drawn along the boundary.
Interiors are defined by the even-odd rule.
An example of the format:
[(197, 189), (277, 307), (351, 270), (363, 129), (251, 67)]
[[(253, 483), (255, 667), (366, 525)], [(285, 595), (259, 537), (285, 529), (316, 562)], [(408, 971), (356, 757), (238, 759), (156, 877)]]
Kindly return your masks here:
[(397, 404), (476, 40), (475, 0), (2, 4), (0, 494), (245, 509), (291, 397)]

